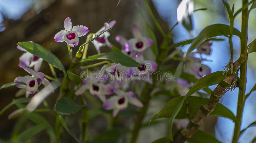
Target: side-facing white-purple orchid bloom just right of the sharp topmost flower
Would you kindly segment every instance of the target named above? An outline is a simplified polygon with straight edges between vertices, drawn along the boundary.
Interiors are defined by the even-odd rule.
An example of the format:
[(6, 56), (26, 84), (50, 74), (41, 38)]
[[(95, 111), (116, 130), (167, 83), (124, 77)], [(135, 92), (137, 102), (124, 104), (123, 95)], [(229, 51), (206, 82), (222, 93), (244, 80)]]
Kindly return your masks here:
[[(105, 22), (104, 26), (101, 27), (98, 32), (93, 34), (92, 38), (94, 38), (96, 35), (100, 34), (101, 32), (107, 31), (108, 29), (112, 28), (115, 24), (116, 24), (115, 20), (109, 23)], [(98, 54), (100, 54), (100, 47), (103, 47), (103, 46), (111, 47), (111, 43), (108, 41), (109, 36), (110, 36), (110, 33), (107, 31), (92, 41), (92, 44), (95, 46), (95, 49), (97, 50)]]

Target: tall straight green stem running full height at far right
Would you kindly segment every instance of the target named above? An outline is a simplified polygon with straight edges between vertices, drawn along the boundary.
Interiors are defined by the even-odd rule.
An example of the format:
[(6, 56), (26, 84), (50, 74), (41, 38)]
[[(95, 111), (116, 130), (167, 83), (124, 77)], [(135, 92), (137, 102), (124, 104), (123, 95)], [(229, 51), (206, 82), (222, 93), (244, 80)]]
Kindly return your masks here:
[[(248, 3), (248, 0), (243, 0), (243, 6)], [(242, 11), (242, 28), (241, 33), (244, 35), (245, 40), (241, 40), (241, 54), (246, 53), (247, 51), (247, 32), (248, 32), (248, 8)], [(244, 110), (244, 102), (245, 102), (245, 89), (246, 89), (246, 70), (247, 70), (247, 58), (240, 66), (240, 79), (244, 82), (241, 85), (241, 89), (239, 88), (238, 92), (238, 101), (237, 101), (237, 111), (236, 111), (236, 118), (238, 123), (235, 124), (234, 135), (232, 143), (237, 143), (239, 135), (240, 135), (240, 128), (242, 123), (242, 115)]]

